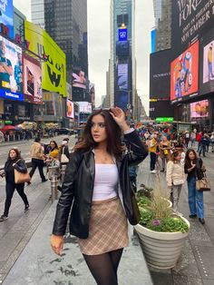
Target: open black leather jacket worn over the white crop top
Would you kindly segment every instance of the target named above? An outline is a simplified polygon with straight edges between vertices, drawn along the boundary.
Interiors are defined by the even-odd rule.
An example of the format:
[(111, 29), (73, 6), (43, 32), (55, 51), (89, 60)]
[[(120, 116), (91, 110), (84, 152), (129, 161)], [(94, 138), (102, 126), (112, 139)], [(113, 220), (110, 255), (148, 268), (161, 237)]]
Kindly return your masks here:
[[(119, 171), (124, 209), (128, 220), (133, 223), (129, 165), (142, 162), (148, 151), (135, 131), (124, 136), (129, 142), (131, 152), (124, 154), (121, 160), (116, 160), (116, 164)], [(56, 207), (53, 234), (64, 235), (68, 216), (73, 205), (69, 224), (70, 233), (81, 239), (87, 239), (94, 174), (95, 163), (92, 150), (89, 152), (73, 152), (66, 168), (62, 194)]]

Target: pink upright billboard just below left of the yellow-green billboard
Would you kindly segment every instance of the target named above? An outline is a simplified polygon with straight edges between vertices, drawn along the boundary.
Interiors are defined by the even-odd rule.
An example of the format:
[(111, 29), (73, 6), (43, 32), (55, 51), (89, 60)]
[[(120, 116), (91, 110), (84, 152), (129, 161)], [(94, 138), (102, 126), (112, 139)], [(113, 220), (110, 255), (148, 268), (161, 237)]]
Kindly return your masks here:
[(43, 103), (41, 64), (34, 58), (24, 55), (23, 65), (23, 91), (26, 101)]

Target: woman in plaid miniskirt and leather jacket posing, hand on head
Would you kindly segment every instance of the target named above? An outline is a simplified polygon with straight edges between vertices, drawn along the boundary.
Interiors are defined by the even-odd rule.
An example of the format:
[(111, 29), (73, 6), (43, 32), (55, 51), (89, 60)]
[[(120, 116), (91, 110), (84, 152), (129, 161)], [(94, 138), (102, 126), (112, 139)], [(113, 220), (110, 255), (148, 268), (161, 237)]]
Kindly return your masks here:
[[(130, 145), (131, 152), (126, 154), (122, 152), (121, 131)], [(129, 166), (146, 156), (146, 147), (118, 107), (93, 113), (83, 142), (74, 146), (57, 204), (51, 245), (60, 255), (73, 204), (70, 232), (79, 238), (83, 258), (98, 284), (118, 284), (117, 268), (128, 245), (127, 218), (133, 223)]]

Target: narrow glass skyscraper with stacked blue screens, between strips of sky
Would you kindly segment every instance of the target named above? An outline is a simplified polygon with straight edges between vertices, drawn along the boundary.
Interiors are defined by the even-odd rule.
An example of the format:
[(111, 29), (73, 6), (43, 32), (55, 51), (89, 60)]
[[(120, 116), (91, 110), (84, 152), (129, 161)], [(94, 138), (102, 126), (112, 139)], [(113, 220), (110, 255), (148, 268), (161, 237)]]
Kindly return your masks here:
[[(111, 104), (134, 107), (136, 91), (134, 15), (135, 1), (111, 1)], [(127, 38), (119, 39), (119, 29)], [(123, 104), (123, 105), (122, 105)]]

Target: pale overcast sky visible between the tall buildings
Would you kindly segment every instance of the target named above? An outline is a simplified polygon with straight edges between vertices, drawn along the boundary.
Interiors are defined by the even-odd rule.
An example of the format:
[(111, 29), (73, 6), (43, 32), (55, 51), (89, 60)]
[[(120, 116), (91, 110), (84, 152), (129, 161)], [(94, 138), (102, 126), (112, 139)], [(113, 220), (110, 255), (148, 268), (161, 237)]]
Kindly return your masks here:
[[(147, 113), (149, 110), (151, 28), (154, 26), (152, 2), (151, 0), (135, 0), (137, 89)], [(14, 0), (14, 5), (26, 15), (28, 20), (31, 20), (31, 0)], [(96, 105), (99, 105), (102, 95), (106, 93), (106, 71), (110, 57), (110, 0), (88, 0), (88, 42), (89, 79), (95, 84)]]

